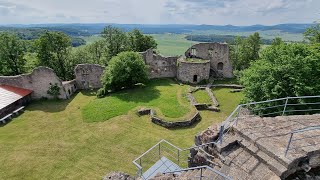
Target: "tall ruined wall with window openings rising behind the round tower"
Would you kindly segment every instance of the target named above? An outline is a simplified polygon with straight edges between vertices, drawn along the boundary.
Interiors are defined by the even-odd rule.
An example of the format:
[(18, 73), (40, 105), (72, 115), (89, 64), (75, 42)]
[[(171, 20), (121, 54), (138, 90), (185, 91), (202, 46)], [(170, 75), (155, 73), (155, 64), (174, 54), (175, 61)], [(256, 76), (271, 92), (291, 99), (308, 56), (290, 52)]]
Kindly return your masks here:
[(226, 43), (196, 44), (185, 52), (185, 56), (210, 60), (210, 75), (213, 77), (233, 77), (229, 46)]

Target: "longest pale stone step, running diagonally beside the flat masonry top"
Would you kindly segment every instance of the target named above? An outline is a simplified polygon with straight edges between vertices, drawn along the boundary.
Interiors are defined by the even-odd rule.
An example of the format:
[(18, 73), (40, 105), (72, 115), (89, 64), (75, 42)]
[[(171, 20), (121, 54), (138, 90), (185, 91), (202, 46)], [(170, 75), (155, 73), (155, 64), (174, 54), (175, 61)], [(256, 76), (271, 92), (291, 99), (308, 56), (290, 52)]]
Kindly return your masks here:
[(256, 147), (253, 143), (249, 142), (246, 139), (243, 139), (239, 142), (240, 146), (244, 148), (247, 152), (249, 152), (252, 156), (256, 157), (260, 162), (263, 162), (268, 166), (270, 170), (272, 170), (276, 175), (281, 176), (288, 169), (283, 164), (278, 162), (273, 157), (270, 157), (265, 152), (261, 151), (258, 147)]

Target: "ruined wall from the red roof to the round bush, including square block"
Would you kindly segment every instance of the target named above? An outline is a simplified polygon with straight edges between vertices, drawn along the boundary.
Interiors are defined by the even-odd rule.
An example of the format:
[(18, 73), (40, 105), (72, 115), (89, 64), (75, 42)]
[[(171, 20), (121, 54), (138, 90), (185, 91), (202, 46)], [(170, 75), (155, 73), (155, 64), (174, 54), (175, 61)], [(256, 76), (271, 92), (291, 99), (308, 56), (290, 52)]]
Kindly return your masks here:
[(59, 87), (60, 99), (69, 99), (79, 89), (101, 88), (101, 76), (104, 67), (95, 64), (80, 64), (75, 68), (75, 79), (61, 81), (55, 72), (47, 67), (38, 67), (30, 74), (17, 76), (0, 76), (0, 85), (8, 85), (17, 88), (31, 90), (32, 99), (53, 98), (48, 94), (52, 85)]

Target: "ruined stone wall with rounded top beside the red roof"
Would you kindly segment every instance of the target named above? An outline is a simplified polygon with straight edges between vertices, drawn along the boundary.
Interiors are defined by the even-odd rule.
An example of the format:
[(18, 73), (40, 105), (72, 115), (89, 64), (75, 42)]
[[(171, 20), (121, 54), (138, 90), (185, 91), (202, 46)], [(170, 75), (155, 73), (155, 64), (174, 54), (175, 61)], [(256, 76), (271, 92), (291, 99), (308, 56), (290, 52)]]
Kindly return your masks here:
[(60, 87), (59, 98), (67, 98), (62, 81), (52, 69), (47, 67), (38, 67), (30, 74), (22, 74), (18, 76), (0, 76), (0, 85), (10, 85), (32, 90), (32, 99), (52, 98), (52, 96), (47, 94), (50, 83), (57, 84)]

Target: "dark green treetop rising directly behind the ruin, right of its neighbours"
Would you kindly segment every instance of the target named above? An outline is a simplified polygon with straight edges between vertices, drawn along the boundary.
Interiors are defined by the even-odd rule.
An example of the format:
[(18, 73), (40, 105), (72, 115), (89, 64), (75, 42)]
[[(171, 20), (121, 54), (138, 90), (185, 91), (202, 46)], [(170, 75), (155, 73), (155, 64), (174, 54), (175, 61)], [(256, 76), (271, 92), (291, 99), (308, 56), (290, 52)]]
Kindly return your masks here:
[(145, 36), (138, 29), (134, 29), (128, 35), (131, 51), (143, 52), (157, 47), (157, 43), (152, 36)]

